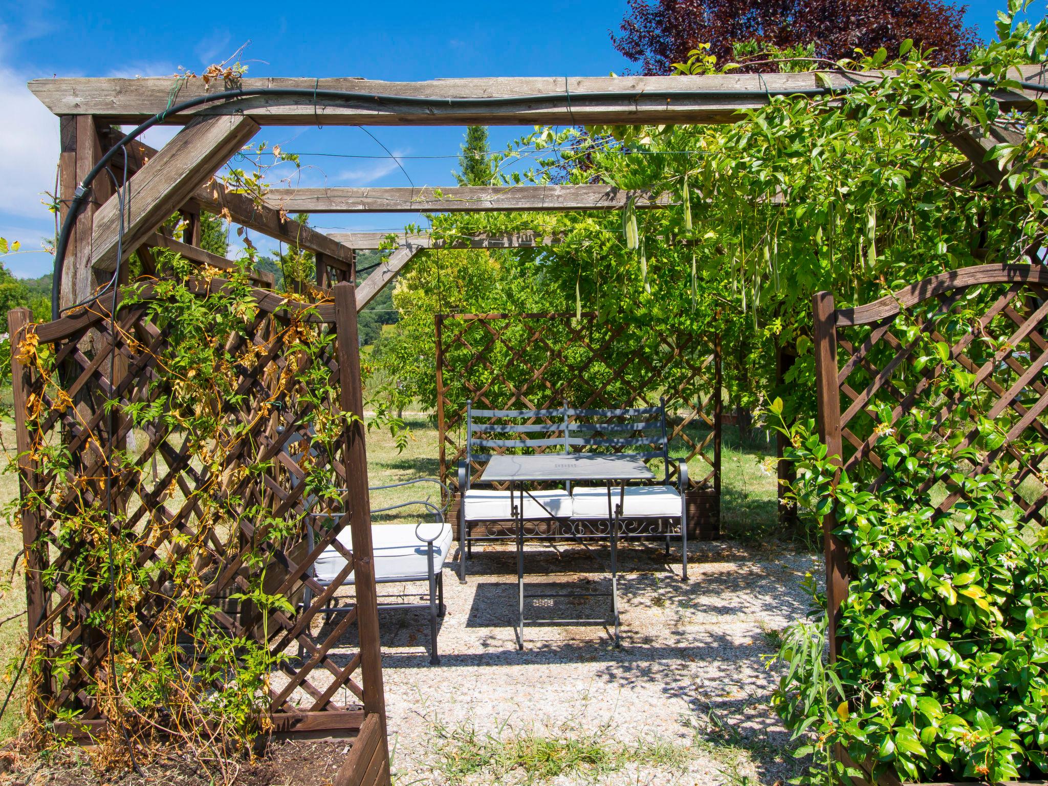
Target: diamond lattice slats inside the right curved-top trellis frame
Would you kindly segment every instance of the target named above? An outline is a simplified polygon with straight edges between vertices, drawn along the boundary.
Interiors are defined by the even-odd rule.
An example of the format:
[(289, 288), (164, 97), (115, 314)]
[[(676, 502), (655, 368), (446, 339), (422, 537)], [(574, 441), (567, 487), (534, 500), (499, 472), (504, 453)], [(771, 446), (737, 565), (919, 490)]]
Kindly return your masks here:
[[(1048, 444), (1043, 421), (1048, 408), (1045, 289), (1024, 283), (960, 287), (860, 326), (843, 325), (839, 313), (837, 384), (844, 467), (849, 474), (876, 489), (887, 478), (874, 450), (877, 433), (920, 408), (935, 413), (941, 436), (947, 427), (955, 434), (963, 431), (956, 450), (976, 449), (975, 457), (965, 459), (969, 475), (997, 461), (1008, 462), (1014, 471), (1016, 503), (1027, 523), (1043, 526), (1048, 504), (1043, 449)], [(920, 367), (918, 348), (929, 342), (944, 345), (948, 365), (935, 357)], [(944, 366), (968, 376), (933, 399), (931, 380)], [(1003, 424), (1006, 438), (1000, 445), (980, 440), (983, 418)], [(949, 494), (939, 508), (948, 510), (959, 499), (958, 493)]]

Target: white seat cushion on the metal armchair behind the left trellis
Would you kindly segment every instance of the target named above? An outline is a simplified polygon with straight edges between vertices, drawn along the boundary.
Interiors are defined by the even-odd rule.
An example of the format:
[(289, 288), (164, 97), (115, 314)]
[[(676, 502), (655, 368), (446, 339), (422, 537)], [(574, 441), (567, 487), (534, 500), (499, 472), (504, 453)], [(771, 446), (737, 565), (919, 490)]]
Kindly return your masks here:
[[(428, 522), (419, 526), (418, 531), (428, 538), (440, 526), (436, 522)], [(339, 533), (337, 540), (347, 549), (353, 550), (348, 525)], [(414, 524), (375, 524), (371, 527), (371, 544), (375, 558), (375, 581), (424, 580), (429, 575), (427, 544), (416, 537)], [(433, 542), (434, 574), (438, 574), (443, 567), (451, 546), (452, 527), (445, 523), (440, 536)], [(345, 565), (343, 555), (333, 546), (328, 546), (313, 563), (316, 581), (323, 585), (330, 584)], [(355, 571), (350, 573), (346, 584), (352, 584), (354, 575)]]

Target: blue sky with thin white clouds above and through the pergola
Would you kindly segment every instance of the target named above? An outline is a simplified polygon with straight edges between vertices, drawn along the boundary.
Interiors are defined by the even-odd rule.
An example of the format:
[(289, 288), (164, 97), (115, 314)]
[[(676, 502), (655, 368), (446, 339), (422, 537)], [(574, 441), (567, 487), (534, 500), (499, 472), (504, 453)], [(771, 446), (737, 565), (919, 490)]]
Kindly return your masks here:
[[(4, 263), (18, 276), (39, 276), (50, 257), (35, 252), (53, 236), (41, 204), (52, 191), (58, 121), (25, 89), (36, 77), (166, 75), (178, 66), (200, 71), (250, 42), (243, 60), (252, 77), (605, 75), (629, 64), (612, 47), (626, 0), (561, 0), (553, 4), (401, 0), (381, 2), (255, 2), (241, 6), (136, 2), (128, 10), (93, 10), (94, 3), (16, 3), (0, 13), (0, 236), (26, 253)], [(994, 35), (1005, 0), (973, 2), (967, 20)], [(231, 12), (226, 13), (226, 8)], [(1039, 0), (1033, 8), (1043, 13)], [(529, 129), (492, 130), (502, 146)], [(307, 155), (303, 185), (453, 184), (461, 128), (371, 129), (396, 161), (355, 128), (264, 128), (258, 139)], [(146, 140), (162, 145), (172, 131)], [(450, 156), (450, 157), (430, 157)], [(397, 230), (410, 215), (314, 216), (324, 228)]]

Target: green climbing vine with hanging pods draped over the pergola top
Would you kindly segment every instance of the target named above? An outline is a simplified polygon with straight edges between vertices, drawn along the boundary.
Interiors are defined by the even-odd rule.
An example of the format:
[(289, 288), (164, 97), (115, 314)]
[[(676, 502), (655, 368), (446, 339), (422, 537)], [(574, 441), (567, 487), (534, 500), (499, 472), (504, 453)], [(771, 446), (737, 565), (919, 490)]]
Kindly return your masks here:
[[(1043, 245), (1045, 104), (1038, 99), (1021, 115), (1001, 105), (1004, 91), (1019, 87), (1016, 66), (1045, 52), (1048, 23), (1017, 21), (1022, 7), (1013, 1), (999, 40), (959, 67), (934, 65), (910, 42), (836, 64), (783, 51), (781, 69), (812, 71), (815, 84), (828, 85), (830, 72), (882, 75), (855, 80), (847, 92), (773, 96), (734, 125), (536, 129), (492, 156), (506, 189), (606, 183), (661, 194), (670, 206), (434, 216), (436, 237), (533, 231), (561, 240), (507, 264), (483, 296), (460, 291), (460, 300), (489, 302), (497, 300), (489, 292), (537, 286), (568, 308), (689, 332), (706, 330), (720, 310), (734, 400), (749, 409), (762, 393), (778, 394), (788, 414), (810, 414), (813, 292), (869, 302), (933, 272), (1029, 260)], [(681, 69), (727, 66), (697, 50)], [(1008, 172), (1000, 188), (949, 141), (994, 125), (1014, 136), (990, 155)], [(533, 162), (523, 172), (515, 167), (522, 159)], [(420, 287), (427, 293), (416, 299)], [(421, 323), (433, 291), (432, 281), (406, 280), (398, 308)], [(799, 361), (773, 390), (777, 345)], [(412, 380), (432, 389), (432, 375)]]

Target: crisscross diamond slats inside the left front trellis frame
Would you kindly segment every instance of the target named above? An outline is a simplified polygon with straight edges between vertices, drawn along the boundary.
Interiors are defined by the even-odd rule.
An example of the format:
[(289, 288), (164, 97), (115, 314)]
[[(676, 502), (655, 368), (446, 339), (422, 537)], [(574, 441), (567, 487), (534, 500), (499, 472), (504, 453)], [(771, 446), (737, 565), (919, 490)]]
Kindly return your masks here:
[[(192, 457), (192, 434), (163, 421), (132, 429), (130, 418), (108, 414), (109, 400), (118, 399), (124, 407), (134, 406), (155, 401), (167, 392), (163, 388), (167, 383), (156, 373), (157, 356), (162, 355), (167, 340), (150, 321), (146, 305), (122, 310), (113, 332), (108, 319), (97, 314), (81, 322), (82, 328), (58, 339), (51, 346), (61, 362), (63, 383), (59, 388), (64, 393), (56, 394), (56, 388), (45, 385), (46, 380), (35, 370), (26, 371), (20, 380), (29, 400), (41, 401), (44, 411), (49, 412), (42, 421), (28, 421), (36, 428), (29, 434), (32, 443), (48, 445), (65, 441), (73, 457), (70, 466), (36, 466), (24, 478), (29, 487), (45, 498), (53, 499), (52, 493), (68, 488), (65, 497), (53, 499), (52, 508), (41, 506), (30, 514), (38, 520), (37, 552), (45, 566), (46, 612), (38, 630), (47, 632), (45, 646), (51, 656), (77, 647), (81, 654), (77, 667), (67, 675), (61, 679), (53, 675), (46, 677), (44, 694), (51, 697), (51, 708), (77, 711), (82, 721), (102, 717), (90, 686), (97, 680), (108, 646), (105, 630), (92, 624), (91, 614), (107, 607), (108, 589), (82, 592), (80, 599), (75, 599), (73, 577), (64, 570), (72, 550), (58, 523), (62, 512), (85, 504), (105, 506), (108, 493), (114, 508), (125, 514), (114, 520), (118, 531), (113, 537), (135, 544), (135, 565), (151, 576), (135, 607), (143, 637), (151, 623), (170, 607), (168, 587), (174, 562), (185, 553), (190, 544), (202, 545), (196, 569), (204, 581), (201, 594), (218, 607), (217, 624), (230, 636), (249, 636), (260, 641), (264, 638), (275, 656), (289, 654), (279, 661), (283, 674), (275, 675), (269, 686), (275, 716), (357, 709), (364, 696), (361, 654), (347, 655), (344, 645), (335, 647), (355, 623), (357, 608), (337, 613), (330, 624), (320, 626), (318, 615), (342, 582), (322, 587), (308, 574), (309, 566), (329, 545), (346, 559), (340, 578), (353, 571), (353, 554), (335, 541), (343, 526), (348, 526), (350, 517), (335, 519), (334, 526), (318, 530), (311, 550), (307, 548), (305, 527), (301, 524), (307, 504), (306, 484), (302, 482), (306, 463), (330, 465), (335, 477), (343, 481), (337, 484), (347, 486), (346, 440), (336, 442), (341, 447), (334, 456), (294, 451), (293, 443), (308, 437), (303, 418), (312, 405), (300, 400), (293, 388), (277, 384), (282, 374), (286, 379), (290, 359), (279, 340), (284, 327), (282, 318), (260, 309), (246, 335), (230, 347), (233, 353), (238, 353), (252, 344), (254, 354), (241, 356), (255, 359), (246, 362), (249, 366), (241, 364), (238, 368), (238, 396), (231, 397), (215, 413), (227, 422), (226, 433), (238, 435), (234, 444), (225, 446), (222, 463), (217, 467), (202, 466)], [(327, 329), (333, 330), (333, 326)], [(110, 370), (114, 344), (116, 363), (115, 369)], [(323, 363), (337, 389), (336, 343), (328, 347)], [(297, 356), (294, 362), (308, 361)], [(63, 407), (57, 399), (73, 403)], [(337, 401), (330, 406), (339, 409)], [(117, 408), (114, 413), (119, 411)], [(114, 460), (107, 492), (105, 445), (110, 419)], [(308, 439), (299, 442), (304, 444), (308, 444)], [(260, 475), (242, 471), (245, 463), (259, 461), (270, 461), (271, 470)], [(366, 472), (366, 468), (352, 467), (352, 471)], [(354, 501), (346, 497), (329, 503), (328, 509), (350, 510)], [(238, 514), (236, 521), (224, 529), (205, 526), (204, 522), (211, 519), (202, 516), (203, 507), (218, 499), (233, 501)], [(267, 592), (283, 595), (296, 609), (292, 613), (270, 611), (264, 626), (257, 608), (243, 603), (234, 608), (237, 604), (228, 598), (231, 594), (248, 591), (250, 571), (258, 569), (245, 564), (252, 544), (260, 534), (257, 522), (242, 515), (257, 504), (271, 510), (278, 519), (300, 522), (291, 536), (262, 547)], [(312, 598), (303, 607), (303, 590), (307, 585)], [(340, 604), (346, 602), (347, 598), (340, 597)], [(192, 673), (191, 645), (184, 648), (183, 660), (187, 673)]]

